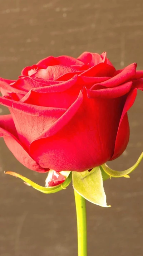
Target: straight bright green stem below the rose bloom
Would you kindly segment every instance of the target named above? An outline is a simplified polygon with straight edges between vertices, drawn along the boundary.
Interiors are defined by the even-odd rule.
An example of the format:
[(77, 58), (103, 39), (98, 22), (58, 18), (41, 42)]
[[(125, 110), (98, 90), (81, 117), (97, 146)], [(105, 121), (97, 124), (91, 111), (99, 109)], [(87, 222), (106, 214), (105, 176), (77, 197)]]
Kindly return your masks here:
[(87, 214), (86, 202), (76, 190), (74, 190), (75, 206), (77, 211), (78, 227), (78, 256), (87, 256)]

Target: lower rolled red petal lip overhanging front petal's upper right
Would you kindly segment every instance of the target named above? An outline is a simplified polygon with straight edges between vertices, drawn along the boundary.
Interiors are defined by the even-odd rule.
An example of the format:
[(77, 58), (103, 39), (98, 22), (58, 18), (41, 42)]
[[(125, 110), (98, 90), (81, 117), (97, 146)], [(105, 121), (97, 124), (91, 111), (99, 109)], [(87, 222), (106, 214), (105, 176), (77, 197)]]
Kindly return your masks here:
[(113, 87), (113, 88), (104, 87), (103, 89), (100, 89), (100, 90), (96, 90), (96, 87), (100, 85), (100, 84), (96, 84), (90, 90), (87, 90), (87, 95), (88, 95), (88, 98), (96, 98), (96, 97), (117, 98), (127, 94), (130, 91), (132, 84), (133, 82), (127, 82), (117, 87)]

